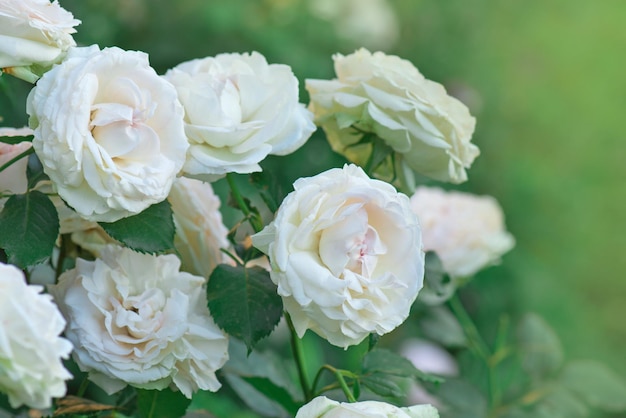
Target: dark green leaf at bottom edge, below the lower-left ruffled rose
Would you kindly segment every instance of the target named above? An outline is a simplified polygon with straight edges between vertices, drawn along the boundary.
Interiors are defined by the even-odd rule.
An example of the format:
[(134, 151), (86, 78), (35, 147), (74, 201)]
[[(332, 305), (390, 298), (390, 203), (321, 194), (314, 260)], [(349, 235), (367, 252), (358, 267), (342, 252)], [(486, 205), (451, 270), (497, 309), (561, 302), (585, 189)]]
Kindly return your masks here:
[(163, 390), (137, 389), (137, 409), (140, 418), (175, 418), (185, 415), (191, 399), (169, 388)]

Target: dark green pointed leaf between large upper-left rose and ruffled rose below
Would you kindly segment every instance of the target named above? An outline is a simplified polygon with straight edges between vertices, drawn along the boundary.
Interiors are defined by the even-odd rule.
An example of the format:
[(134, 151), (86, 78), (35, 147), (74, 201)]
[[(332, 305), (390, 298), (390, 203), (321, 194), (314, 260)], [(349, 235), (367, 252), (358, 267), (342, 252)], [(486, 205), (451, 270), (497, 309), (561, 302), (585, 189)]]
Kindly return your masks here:
[(167, 200), (116, 222), (100, 222), (107, 234), (141, 253), (157, 254), (174, 248), (174, 218)]

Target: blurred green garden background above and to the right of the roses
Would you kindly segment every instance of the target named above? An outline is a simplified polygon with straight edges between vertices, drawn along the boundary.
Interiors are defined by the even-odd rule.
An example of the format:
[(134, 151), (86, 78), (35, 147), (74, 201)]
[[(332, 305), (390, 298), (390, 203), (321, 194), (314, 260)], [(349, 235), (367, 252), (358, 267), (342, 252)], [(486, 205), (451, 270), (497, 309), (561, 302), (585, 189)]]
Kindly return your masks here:
[[(542, 315), (568, 359), (626, 376), (626, 3), (622, 0), (62, 0), (81, 44), (150, 54), (160, 73), (257, 50), (300, 80), (365, 46), (412, 61), (477, 117), (481, 156), (458, 189), (496, 197), (516, 248), (465, 290), (486, 334), (502, 312)], [(25, 83), (10, 83), (24, 94)], [(306, 95), (303, 92), (303, 101)], [(25, 123), (0, 103), (2, 125)], [(315, 139), (285, 178), (315, 174)]]

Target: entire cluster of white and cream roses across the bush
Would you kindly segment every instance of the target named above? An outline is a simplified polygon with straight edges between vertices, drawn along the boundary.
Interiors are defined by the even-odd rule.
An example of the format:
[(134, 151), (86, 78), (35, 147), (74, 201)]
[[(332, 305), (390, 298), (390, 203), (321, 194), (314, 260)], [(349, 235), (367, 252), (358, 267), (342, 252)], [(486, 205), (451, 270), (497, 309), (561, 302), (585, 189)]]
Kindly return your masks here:
[[(109, 393), (127, 384), (172, 386), (187, 397), (217, 390), (228, 340), (210, 316), (204, 285), (225, 262), (220, 248), (229, 243), (208, 181), (259, 171), (267, 155), (292, 153), (313, 133), (314, 120), (333, 148), (360, 166), (382, 141), (391, 154), (370, 174), (401, 177), (405, 186), (414, 183), (413, 172), (463, 181), (478, 155), (467, 108), (398, 57), (363, 49), (335, 56), (338, 79), (307, 80), (307, 109), (291, 69), (259, 53), (193, 60), (159, 76), (142, 52), (75, 46), (78, 23), (56, 1), (0, 2), (0, 67), (30, 80), (45, 69), (27, 101), (32, 144), (62, 199), (55, 202), (62, 231), (96, 256), (78, 259), (50, 287), (69, 342), (59, 337), (64, 320), (50, 297), (24, 291), (23, 276), (0, 266), (0, 390), (13, 406), (47, 407), (65, 393), (70, 376), (60, 358), (70, 342), (79, 367)], [(0, 165), (29, 146), (0, 143)], [(0, 172), (2, 193), (26, 191), (25, 164)], [(450, 203), (468, 211), (455, 215), (443, 195), (432, 198), (436, 204), (419, 191), (409, 199), (357, 165), (302, 178), (294, 189), (252, 239), (269, 256), (271, 279), (300, 337), (311, 329), (348, 347), (398, 327), (422, 288), (424, 249), (457, 276), (512, 246), (497, 208), (478, 215), (478, 227), (469, 198), (467, 207)], [(177, 255), (139, 254), (103, 238), (97, 222), (165, 199)], [(471, 219), (450, 222), (444, 212)], [(461, 227), (468, 222), (472, 230)], [(493, 234), (483, 236), (487, 230)], [(298, 416), (437, 416), (432, 407), (362, 404), (318, 398)]]

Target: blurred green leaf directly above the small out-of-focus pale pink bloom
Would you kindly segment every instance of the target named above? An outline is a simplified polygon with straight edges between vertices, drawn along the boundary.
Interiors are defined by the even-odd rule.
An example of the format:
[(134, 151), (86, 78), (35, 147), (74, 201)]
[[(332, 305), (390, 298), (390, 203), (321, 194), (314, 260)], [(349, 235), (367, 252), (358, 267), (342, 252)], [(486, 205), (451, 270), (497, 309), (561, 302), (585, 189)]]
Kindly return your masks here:
[(456, 317), (445, 306), (428, 309), (419, 321), (424, 335), (445, 347), (465, 347), (467, 337)]

